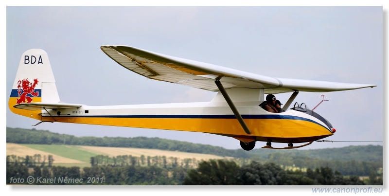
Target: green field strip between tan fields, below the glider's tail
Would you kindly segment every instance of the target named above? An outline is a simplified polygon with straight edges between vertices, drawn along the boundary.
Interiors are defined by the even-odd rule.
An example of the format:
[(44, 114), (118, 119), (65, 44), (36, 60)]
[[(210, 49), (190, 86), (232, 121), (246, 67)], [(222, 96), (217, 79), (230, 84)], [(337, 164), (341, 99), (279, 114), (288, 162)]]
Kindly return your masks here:
[[(41, 150), (55, 155), (59, 155), (65, 158), (80, 160), (86, 163), (90, 162), (90, 158), (97, 156), (98, 154), (82, 150), (77, 146), (70, 145), (45, 145), (45, 144), (22, 144), (23, 146)], [(55, 161), (54, 161), (55, 162)]]

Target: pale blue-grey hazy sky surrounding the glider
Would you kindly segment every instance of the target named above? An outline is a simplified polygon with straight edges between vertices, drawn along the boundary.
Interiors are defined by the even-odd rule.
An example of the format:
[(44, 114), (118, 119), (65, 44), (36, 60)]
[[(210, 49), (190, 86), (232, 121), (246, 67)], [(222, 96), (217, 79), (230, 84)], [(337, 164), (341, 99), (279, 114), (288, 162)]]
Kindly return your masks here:
[[(332, 141), (382, 141), (383, 11), (370, 7), (8, 6), (6, 100), (21, 54), (45, 50), (62, 102), (89, 106), (212, 100), (215, 92), (154, 81), (125, 70), (100, 49), (127, 45), (261, 75), (377, 87), (301, 92), (336, 128)], [(91, 96), (92, 95), (92, 96)], [(291, 93), (278, 94), (283, 103)], [(6, 101), (7, 104), (7, 101)], [(233, 138), (129, 127), (38, 123), (12, 113), (6, 126), (75, 136), (158, 137), (239, 149)], [(303, 149), (382, 143), (313, 143)], [(255, 148), (265, 143), (257, 142)], [(273, 143), (275, 147), (286, 144)]]

